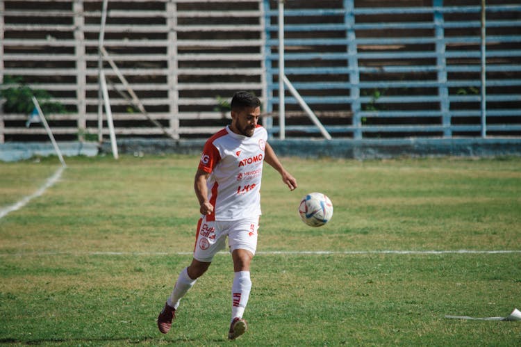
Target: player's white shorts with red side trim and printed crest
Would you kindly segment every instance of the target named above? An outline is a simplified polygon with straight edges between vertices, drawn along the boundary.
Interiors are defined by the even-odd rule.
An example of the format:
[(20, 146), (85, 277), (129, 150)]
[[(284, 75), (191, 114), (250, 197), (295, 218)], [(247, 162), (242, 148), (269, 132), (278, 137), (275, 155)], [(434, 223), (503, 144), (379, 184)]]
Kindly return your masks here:
[(240, 220), (206, 220), (206, 216), (197, 223), (194, 258), (210, 263), (213, 256), (226, 247), (226, 236), (230, 252), (242, 249), (255, 255), (257, 249), (259, 217)]

